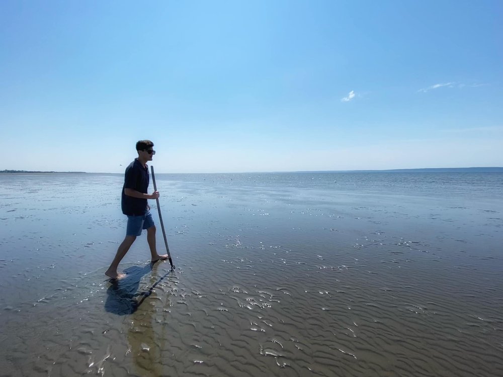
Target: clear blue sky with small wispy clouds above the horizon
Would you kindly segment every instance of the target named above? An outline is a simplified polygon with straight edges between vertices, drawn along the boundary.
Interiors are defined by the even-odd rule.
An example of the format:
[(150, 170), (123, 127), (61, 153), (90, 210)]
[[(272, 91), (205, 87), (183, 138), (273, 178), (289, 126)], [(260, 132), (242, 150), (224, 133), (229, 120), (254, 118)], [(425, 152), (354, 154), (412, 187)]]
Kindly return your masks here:
[[(503, 166), (503, 2), (0, 2), (0, 170)], [(121, 166), (122, 165), (122, 166)]]

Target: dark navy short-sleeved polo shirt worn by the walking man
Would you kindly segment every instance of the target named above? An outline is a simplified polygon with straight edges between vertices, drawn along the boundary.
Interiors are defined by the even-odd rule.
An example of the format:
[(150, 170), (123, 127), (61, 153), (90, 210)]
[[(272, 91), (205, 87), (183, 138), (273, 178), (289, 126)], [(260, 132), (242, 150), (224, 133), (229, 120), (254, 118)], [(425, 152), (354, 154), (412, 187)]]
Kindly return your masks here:
[(141, 216), (145, 214), (147, 200), (129, 197), (124, 193), (124, 189), (133, 189), (147, 194), (149, 180), (148, 166), (143, 166), (137, 158), (126, 167), (121, 199), (122, 213), (124, 215)]

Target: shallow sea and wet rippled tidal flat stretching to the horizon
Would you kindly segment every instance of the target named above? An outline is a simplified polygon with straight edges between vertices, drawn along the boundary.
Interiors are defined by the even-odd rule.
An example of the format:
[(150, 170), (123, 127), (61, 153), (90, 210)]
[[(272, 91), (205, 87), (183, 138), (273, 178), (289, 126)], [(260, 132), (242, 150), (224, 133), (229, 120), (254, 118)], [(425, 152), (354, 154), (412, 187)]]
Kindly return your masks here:
[(503, 375), (503, 173), (155, 179), (112, 282), (122, 174), (0, 174), (0, 376)]

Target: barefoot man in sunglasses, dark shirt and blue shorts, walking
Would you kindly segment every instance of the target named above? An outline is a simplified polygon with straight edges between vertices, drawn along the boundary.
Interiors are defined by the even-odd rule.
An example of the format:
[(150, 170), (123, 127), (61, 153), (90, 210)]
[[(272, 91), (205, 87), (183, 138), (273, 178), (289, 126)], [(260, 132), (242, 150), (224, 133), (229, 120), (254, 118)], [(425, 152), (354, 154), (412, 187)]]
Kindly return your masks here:
[(124, 277), (124, 273), (118, 273), (117, 267), (137, 236), (141, 234), (142, 229), (147, 230), (147, 242), (150, 248), (151, 261), (167, 259), (167, 254), (159, 255), (155, 248), (155, 225), (150, 214), (150, 206), (147, 199), (159, 198), (159, 192), (154, 191), (148, 194), (148, 183), (150, 176), (148, 174), (147, 161), (152, 161), (155, 151), (152, 149), (154, 143), (150, 140), (140, 140), (136, 143), (138, 158), (126, 168), (124, 175), (124, 186), (122, 187), (121, 207), (122, 213), (127, 215), (126, 238), (119, 246), (112, 264), (105, 272), (105, 275), (112, 279)]

